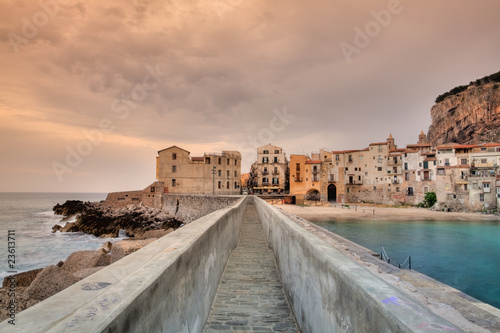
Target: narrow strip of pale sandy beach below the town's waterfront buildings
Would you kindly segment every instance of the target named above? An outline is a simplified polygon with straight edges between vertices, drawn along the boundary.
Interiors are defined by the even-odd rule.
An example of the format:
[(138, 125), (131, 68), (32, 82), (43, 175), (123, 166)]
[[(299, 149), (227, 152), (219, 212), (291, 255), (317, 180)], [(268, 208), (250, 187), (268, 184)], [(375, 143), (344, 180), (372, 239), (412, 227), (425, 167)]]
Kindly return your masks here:
[(373, 205), (296, 206), (277, 205), (309, 221), (319, 220), (391, 220), (391, 221), (499, 221), (500, 215), (432, 211), (414, 207), (381, 207)]

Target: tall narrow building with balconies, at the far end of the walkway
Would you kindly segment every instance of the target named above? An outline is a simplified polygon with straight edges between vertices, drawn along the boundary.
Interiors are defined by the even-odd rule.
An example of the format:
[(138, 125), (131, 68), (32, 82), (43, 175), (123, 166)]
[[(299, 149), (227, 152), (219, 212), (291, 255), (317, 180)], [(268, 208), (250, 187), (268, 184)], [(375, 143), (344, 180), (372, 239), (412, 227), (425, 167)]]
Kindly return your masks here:
[(283, 148), (272, 144), (257, 148), (257, 161), (252, 168), (254, 193), (285, 193), (288, 161)]

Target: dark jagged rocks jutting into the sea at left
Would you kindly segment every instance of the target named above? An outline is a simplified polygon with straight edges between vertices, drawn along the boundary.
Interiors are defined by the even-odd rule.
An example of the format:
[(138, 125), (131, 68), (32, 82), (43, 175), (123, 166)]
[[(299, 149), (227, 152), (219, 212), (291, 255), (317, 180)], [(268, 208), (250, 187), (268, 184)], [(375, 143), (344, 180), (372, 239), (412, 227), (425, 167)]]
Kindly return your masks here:
[(76, 216), (75, 222), (54, 225), (52, 232), (84, 232), (96, 237), (118, 237), (125, 230), (128, 237), (142, 237), (146, 231), (177, 229), (183, 221), (151, 207), (129, 206), (114, 209), (100, 202), (66, 201), (57, 204), (54, 213), (63, 221)]

